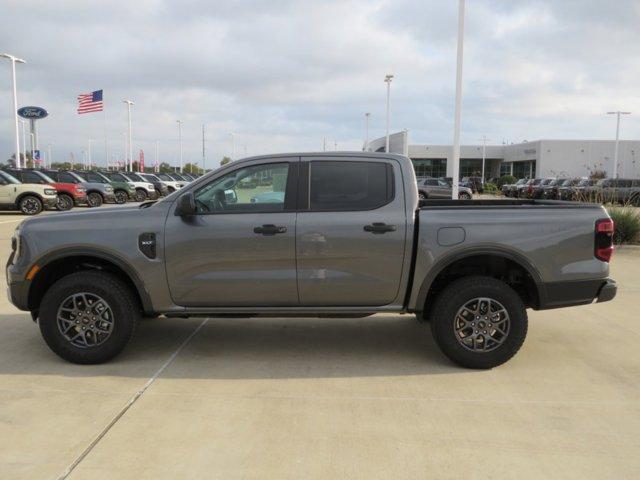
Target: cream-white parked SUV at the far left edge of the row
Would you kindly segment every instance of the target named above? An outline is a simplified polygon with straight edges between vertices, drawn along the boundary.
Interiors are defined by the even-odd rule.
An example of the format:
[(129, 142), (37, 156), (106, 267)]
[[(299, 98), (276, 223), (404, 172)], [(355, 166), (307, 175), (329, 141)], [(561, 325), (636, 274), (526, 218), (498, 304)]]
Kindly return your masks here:
[(58, 206), (58, 194), (51, 185), (22, 183), (13, 175), (0, 170), (0, 208), (20, 210), (25, 215), (37, 215), (43, 209)]

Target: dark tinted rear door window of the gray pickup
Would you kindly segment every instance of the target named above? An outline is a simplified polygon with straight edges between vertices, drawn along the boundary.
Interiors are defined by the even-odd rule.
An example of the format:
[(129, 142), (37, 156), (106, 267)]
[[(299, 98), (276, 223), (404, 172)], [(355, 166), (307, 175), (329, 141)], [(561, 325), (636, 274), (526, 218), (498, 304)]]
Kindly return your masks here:
[(373, 210), (393, 199), (393, 169), (382, 162), (311, 162), (312, 211)]

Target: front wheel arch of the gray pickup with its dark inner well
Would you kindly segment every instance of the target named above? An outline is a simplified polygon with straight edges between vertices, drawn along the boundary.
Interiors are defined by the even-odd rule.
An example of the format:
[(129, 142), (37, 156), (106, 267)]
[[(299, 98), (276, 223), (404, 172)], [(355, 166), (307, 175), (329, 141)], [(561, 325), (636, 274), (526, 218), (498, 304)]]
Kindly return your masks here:
[(34, 265), (40, 269), (29, 286), (29, 310), (38, 311), (45, 293), (57, 280), (78, 271), (98, 270), (114, 274), (127, 284), (140, 302), (145, 314), (153, 313), (151, 296), (135, 269), (124, 259), (110, 252), (92, 248), (74, 248), (55, 251), (39, 258)]

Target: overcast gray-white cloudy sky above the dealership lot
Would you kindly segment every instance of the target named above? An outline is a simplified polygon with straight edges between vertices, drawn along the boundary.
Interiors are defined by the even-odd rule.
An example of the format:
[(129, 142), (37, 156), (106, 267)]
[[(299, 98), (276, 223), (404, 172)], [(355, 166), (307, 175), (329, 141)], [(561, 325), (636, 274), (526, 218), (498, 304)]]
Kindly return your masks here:
[[(81, 158), (102, 114), (76, 115), (79, 93), (104, 89), (109, 152), (133, 145), (147, 162), (160, 142), (175, 162), (207, 166), (231, 152), (360, 149), (384, 134), (386, 73), (392, 130), (411, 143), (450, 143), (455, 83), (454, 0), (2, 0), (0, 50), (18, 66), (18, 103), (50, 112), (40, 147)], [(626, 109), (622, 138), (640, 138), (640, 2), (467, 0), (462, 141), (611, 138), (608, 110)], [(12, 152), (9, 66), (0, 63), (0, 153)], [(3, 158), (3, 160), (4, 160)]]

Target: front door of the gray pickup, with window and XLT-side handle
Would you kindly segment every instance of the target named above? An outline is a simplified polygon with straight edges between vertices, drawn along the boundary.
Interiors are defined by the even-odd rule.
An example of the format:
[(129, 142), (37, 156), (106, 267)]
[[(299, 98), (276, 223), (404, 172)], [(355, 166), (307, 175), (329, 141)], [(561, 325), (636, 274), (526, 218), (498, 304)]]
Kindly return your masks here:
[(169, 212), (166, 270), (176, 304), (298, 305), (298, 164), (299, 157), (240, 164), (194, 191), (196, 215)]

